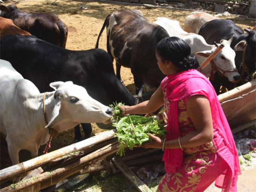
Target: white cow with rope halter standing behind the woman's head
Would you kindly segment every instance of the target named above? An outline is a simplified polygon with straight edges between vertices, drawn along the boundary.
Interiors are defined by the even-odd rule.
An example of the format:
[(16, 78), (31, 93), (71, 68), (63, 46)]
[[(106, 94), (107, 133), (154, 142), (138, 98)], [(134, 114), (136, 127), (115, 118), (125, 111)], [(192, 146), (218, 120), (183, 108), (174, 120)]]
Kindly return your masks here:
[[(191, 48), (191, 52), (195, 54), (195, 57), (197, 58), (199, 65), (201, 65), (205, 61), (205, 59), (217, 49), (216, 46), (207, 44), (201, 35), (187, 33), (186, 31), (182, 30), (178, 21), (170, 20), (165, 17), (158, 17), (154, 23), (162, 26), (168, 32), (170, 37), (175, 36), (186, 41)], [(225, 46), (215, 56), (215, 58), (213, 58), (213, 62), (218, 68), (221, 69), (219, 70), (219, 72), (222, 74), (224, 73), (224, 76), (226, 76), (229, 79), (229, 81), (237, 82), (241, 79), (241, 76), (236, 71), (236, 54), (235, 51), (230, 48), (231, 41), (232, 40), (221, 40), (221, 43)], [(203, 68), (201, 73), (203, 73), (208, 78), (210, 77), (211, 70), (212, 67), (209, 63)]]

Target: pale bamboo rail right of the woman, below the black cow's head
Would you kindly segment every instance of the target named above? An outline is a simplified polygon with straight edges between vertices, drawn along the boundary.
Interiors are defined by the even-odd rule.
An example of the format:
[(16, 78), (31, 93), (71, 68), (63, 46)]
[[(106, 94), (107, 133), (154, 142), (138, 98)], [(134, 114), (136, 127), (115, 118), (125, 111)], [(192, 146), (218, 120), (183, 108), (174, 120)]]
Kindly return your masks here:
[(222, 94), (218, 95), (219, 102), (222, 103), (224, 101), (241, 96), (242, 94), (247, 93), (250, 88), (253, 88), (253, 87), (256, 88), (255, 86), (256, 86), (256, 79), (253, 79), (244, 85), (241, 85), (241, 86), (236, 87), (226, 93), (222, 93)]

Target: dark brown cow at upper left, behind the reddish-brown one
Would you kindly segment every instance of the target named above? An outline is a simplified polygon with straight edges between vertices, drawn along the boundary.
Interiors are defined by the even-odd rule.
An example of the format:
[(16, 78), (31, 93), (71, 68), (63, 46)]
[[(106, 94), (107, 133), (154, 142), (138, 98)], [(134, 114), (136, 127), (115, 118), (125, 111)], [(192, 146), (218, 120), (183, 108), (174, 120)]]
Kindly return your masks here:
[[(7, 11), (9, 9), (9, 11)], [(53, 13), (27, 13), (16, 5), (0, 6), (0, 16), (11, 19), (14, 24), (41, 40), (66, 47), (67, 26)]]

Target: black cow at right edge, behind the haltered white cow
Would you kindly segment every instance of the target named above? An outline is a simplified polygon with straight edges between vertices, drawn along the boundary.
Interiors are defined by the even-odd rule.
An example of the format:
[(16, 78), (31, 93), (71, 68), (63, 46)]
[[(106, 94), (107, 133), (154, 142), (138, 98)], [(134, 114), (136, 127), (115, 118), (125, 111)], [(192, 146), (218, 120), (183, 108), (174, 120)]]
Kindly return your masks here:
[[(205, 23), (198, 32), (198, 35), (203, 36), (208, 44), (212, 44), (214, 41), (219, 42), (222, 39), (229, 40), (232, 36), (234, 37), (230, 47), (236, 52), (236, 69), (240, 69), (239, 73), (241, 73), (242, 81), (233, 84), (215, 74), (215, 79), (212, 83), (217, 87), (223, 85), (230, 90), (254, 78), (253, 74), (256, 69), (256, 31), (244, 30), (247, 33), (244, 33), (232, 20), (217, 19)], [(242, 66), (241, 63), (243, 63)], [(216, 92), (218, 93), (218, 90)]]

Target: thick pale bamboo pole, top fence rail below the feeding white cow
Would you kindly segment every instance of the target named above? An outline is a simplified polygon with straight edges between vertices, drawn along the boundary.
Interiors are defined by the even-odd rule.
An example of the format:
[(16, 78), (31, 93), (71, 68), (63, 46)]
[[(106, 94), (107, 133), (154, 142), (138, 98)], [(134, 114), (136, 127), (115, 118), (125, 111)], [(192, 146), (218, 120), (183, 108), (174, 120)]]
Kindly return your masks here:
[(26, 162), (22, 162), (17, 165), (13, 165), (11, 167), (2, 169), (0, 170), (0, 181), (12, 177), (14, 175), (18, 175), (23, 172), (29, 171), (30, 169), (34, 169), (43, 164), (49, 163), (50, 161), (62, 157), (63, 155), (67, 155), (71, 152), (81, 151), (86, 148), (89, 148), (92, 145), (96, 145), (97, 143), (101, 143), (105, 140), (113, 138), (114, 134), (115, 130), (105, 131), (101, 134), (98, 134), (97, 136), (90, 137), (89, 139), (85, 139), (81, 142), (74, 143), (64, 148), (33, 158)]

